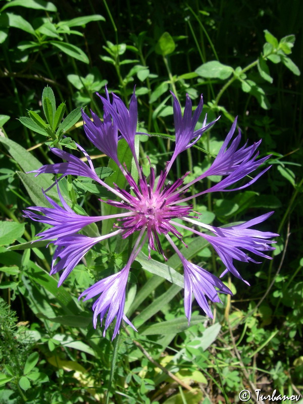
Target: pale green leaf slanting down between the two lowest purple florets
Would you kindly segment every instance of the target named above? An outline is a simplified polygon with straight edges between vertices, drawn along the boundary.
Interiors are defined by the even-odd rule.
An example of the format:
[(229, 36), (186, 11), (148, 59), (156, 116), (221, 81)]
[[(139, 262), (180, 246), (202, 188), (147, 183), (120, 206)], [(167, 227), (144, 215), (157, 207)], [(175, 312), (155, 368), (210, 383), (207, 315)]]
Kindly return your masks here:
[(178, 285), (180, 287), (184, 287), (184, 279), (183, 275), (179, 274), (176, 270), (169, 267), (166, 264), (162, 264), (161, 262), (155, 261), (153, 259), (148, 259), (148, 257), (140, 252), (136, 258), (142, 268), (146, 271), (150, 272), (151, 274), (161, 276), (164, 279), (167, 279), (171, 283)]

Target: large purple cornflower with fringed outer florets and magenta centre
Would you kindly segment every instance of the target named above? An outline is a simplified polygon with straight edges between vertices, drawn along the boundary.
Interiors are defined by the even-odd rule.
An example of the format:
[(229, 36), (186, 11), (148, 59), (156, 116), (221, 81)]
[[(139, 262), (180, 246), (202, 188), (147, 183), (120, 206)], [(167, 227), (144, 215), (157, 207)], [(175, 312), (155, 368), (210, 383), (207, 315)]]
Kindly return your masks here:
[[(194, 216), (196, 212), (193, 212), (191, 205), (185, 204), (187, 201), (208, 192), (233, 191), (249, 186), (264, 174), (269, 167), (261, 171), (254, 178), (244, 182), (243, 185), (236, 185), (232, 189), (229, 188), (232, 185), (234, 186), (237, 181), (244, 179), (252, 171), (255, 171), (270, 156), (257, 160), (259, 154), (257, 149), (261, 140), (250, 146), (247, 146), (246, 142), (242, 147), (238, 147), (241, 133), (239, 131), (237, 136), (234, 137), (237, 123), (235, 120), (216, 159), (208, 170), (186, 185), (184, 185), (184, 178), (189, 173), (185, 173), (183, 177), (170, 183), (167, 181), (167, 176), (177, 156), (182, 151), (192, 146), (200, 136), (216, 122), (206, 124), (205, 119), (202, 128), (195, 130), (203, 108), (203, 99), (200, 99), (198, 107), (192, 116), (191, 100), (189, 96), (186, 95), (186, 103), (182, 116), (180, 104), (174, 94), (173, 97), (176, 132), (175, 148), (171, 160), (167, 162), (166, 167), (160, 172), (158, 177), (156, 177), (155, 170), (150, 165), (149, 176), (146, 178), (146, 176), (143, 175), (142, 169), (139, 167), (139, 162), (135, 154), (134, 141), (135, 135), (138, 133), (136, 131), (137, 99), (135, 93), (133, 93), (130, 107), (127, 109), (121, 98), (115, 94), (113, 94), (113, 102), (111, 103), (107, 89), (106, 98), (100, 96), (104, 104), (103, 122), (93, 112), (91, 112), (93, 117), (93, 121), (91, 121), (82, 111), (84, 130), (87, 138), (99, 150), (107, 154), (117, 163), (119, 169), (125, 176), (128, 187), (121, 189), (116, 184), (112, 187), (100, 179), (95, 172), (88, 154), (79, 145), (78, 148), (87, 158), (88, 165), (66, 151), (52, 148), (53, 153), (66, 162), (45, 165), (34, 171), (36, 175), (41, 173), (54, 173), (62, 174), (61, 178), (66, 175), (79, 175), (91, 178), (113, 193), (113, 199), (103, 200), (103, 202), (119, 208), (119, 210), (121, 210), (119, 213), (116, 215), (95, 217), (78, 215), (63, 199), (58, 183), (57, 188), (62, 207), (43, 191), (48, 203), (51, 204), (52, 207), (29, 207), (24, 211), (26, 217), (53, 226), (37, 235), (40, 236), (42, 240), (54, 240), (52, 242), (56, 245), (56, 250), (52, 262), (51, 274), (63, 271), (58, 286), (67, 278), (86, 252), (98, 242), (118, 234), (120, 234), (122, 238), (126, 238), (131, 234), (137, 235), (125, 267), (120, 272), (99, 280), (80, 295), (80, 297), (85, 296), (85, 300), (98, 296), (92, 307), (94, 312), (94, 327), (97, 325), (98, 316), (100, 317), (101, 323), (106, 316), (105, 333), (109, 325), (116, 318), (113, 338), (119, 333), (122, 319), (133, 327), (124, 314), (126, 285), (131, 265), (145, 242), (147, 242), (149, 258), (151, 250), (155, 250), (162, 254), (166, 260), (159, 237), (160, 235), (164, 235), (179, 256), (184, 269), (184, 308), (185, 315), (189, 322), (192, 293), (201, 309), (203, 309), (209, 317), (212, 317), (207, 297), (213, 302), (219, 302), (220, 298), (218, 292), (231, 294), (231, 291), (218, 277), (183, 257), (172, 239), (172, 236), (174, 236), (182, 240), (182, 234), (178, 229), (183, 228), (189, 230), (193, 234), (206, 239), (213, 246), (226, 267), (221, 276), (230, 272), (239, 279), (242, 279), (242, 277), (235, 268), (234, 261), (258, 263), (247, 255), (246, 252), (253, 253), (262, 258), (271, 259), (265, 252), (274, 249), (270, 244), (275, 241), (270, 239), (278, 235), (272, 232), (251, 229), (251, 226), (262, 223), (273, 212), (249, 220), (246, 223), (224, 228), (210, 226), (196, 220), (197, 217)], [(119, 136), (118, 131), (120, 132)], [(124, 162), (118, 160), (117, 147), (118, 140), (121, 137), (126, 140), (132, 151), (138, 169), (138, 181), (135, 181), (133, 176), (128, 172)], [(220, 175), (223, 178), (208, 189), (198, 192), (195, 195), (184, 197), (184, 193), (189, 190), (191, 185), (210, 175)], [(43, 216), (40, 215), (40, 213), (43, 214)], [(115, 229), (109, 234), (99, 237), (88, 237), (78, 234), (86, 225), (108, 219), (117, 219), (117, 223), (114, 225)], [(181, 224), (180, 220), (176, 221), (175, 219), (182, 219), (185, 223)], [(202, 228), (204, 232), (196, 228)], [(57, 261), (58, 259), (59, 261)]]

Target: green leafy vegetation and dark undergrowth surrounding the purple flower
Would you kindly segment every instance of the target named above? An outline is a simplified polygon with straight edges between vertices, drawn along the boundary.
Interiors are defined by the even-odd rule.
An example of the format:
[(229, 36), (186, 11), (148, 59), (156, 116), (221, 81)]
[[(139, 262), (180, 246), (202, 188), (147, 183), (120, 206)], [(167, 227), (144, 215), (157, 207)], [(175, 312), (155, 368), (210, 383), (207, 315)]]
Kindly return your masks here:
[[(0, 1), (1, 403), (209, 404), (239, 402), (242, 389), (252, 392), (251, 402), (258, 388), (300, 393), (302, 20), (299, 0)], [(125, 102), (136, 85), (140, 130), (160, 134), (140, 136), (144, 168), (146, 155), (163, 167), (170, 153), (169, 89), (183, 105), (186, 92), (194, 105), (203, 93), (209, 118), (222, 116), (199, 148), (177, 162), (176, 176), (204, 170), (238, 115), (243, 139), (262, 138), (261, 155), (271, 153), (273, 167), (245, 191), (211, 195), (195, 201), (196, 208), (217, 225), (275, 210), (263, 229), (280, 234), (271, 262), (238, 265), (251, 286), (227, 279), (234, 297), (214, 305), (213, 322), (194, 304), (189, 328), (182, 290), (160, 276), (153, 261), (159, 257), (149, 268), (136, 263), (127, 309), (139, 332), (123, 329), (114, 345), (111, 333), (103, 338), (92, 328), (91, 303), (77, 297), (93, 279), (120, 268), (122, 252), (92, 252), (87, 268), (78, 265), (57, 289), (48, 275), (52, 246), (30, 244), (42, 226), (22, 216), (43, 204), (41, 187), (52, 182), (24, 174), (51, 162), (49, 144), (72, 149), (79, 140), (95, 166), (108, 165), (85, 140), (79, 115), (81, 106), (100, 113), (94, 92), (106, 83)], [(46, 85), (71, 113), (61, 127), (62, 116), (46, 128)], [(80, 181), (65, 186), (78, 209), (99, 212), (99, 189)], [(219, 274), (208, 245), (186, 237), (188, 258)], [(169, 264), (179, 271), (172, 254)]]

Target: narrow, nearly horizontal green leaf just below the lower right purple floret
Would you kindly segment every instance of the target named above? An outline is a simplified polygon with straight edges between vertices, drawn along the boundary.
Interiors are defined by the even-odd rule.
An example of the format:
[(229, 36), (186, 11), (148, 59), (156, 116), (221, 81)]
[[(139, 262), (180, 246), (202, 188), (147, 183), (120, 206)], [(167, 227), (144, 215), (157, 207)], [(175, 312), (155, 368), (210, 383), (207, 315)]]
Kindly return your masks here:
[(205, 321), (205, 316), (191, 316), (190, 324), (188, 325), (188, 320), (186, 317), (179, 317), (173, 320), (162, 321), (161, 323), (153, 324), (144, 328), (140, 331), (141, 335), (167, 335), (167, 334), (177, 334), (187, 330), (188, 327), (200, 324)]

